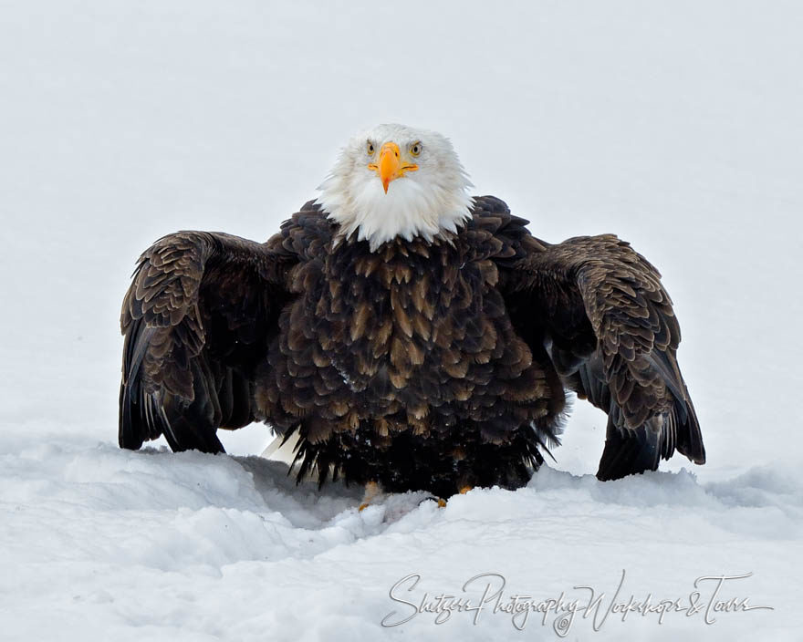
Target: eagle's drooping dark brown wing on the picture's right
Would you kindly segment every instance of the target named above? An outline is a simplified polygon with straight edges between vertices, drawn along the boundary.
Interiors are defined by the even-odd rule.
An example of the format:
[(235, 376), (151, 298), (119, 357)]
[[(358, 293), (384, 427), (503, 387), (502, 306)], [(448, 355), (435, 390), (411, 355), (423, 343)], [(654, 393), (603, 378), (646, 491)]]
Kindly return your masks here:
[(567, 387), (608, 413), (597, 477), (656, 470), (674, 450), (704, 463), (675, 356), (680, 327), (661, 274), (612, 234), (551, 245), (523, 223), (510, 217), (516, 255), (500, 262), (500, 285), (522, 336), (543, 341)]

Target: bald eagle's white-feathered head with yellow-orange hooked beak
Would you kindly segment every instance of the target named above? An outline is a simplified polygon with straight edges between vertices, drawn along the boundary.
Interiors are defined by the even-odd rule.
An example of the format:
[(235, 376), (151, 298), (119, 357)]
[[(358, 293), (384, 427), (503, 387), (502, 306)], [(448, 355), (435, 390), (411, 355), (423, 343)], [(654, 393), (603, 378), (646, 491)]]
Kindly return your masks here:
[(441, 134), (380, 125), (349, 141), (318, 188), (318, 203), (340, 234), (370, 243), (427, 241), (456, 232), (469, 217), (472, 187), (452, 143)]

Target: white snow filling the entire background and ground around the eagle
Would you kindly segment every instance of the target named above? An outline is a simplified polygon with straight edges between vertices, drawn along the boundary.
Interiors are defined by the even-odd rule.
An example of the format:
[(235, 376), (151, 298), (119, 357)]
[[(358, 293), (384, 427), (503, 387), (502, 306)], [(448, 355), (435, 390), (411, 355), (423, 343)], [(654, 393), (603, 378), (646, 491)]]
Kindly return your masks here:
[[(0, 4), (0, 637), (557, 639), (562, 614), (518, 631), (498, 607), (589, 585), (600, 625), (624, 570), (616, 602), (752, 573), (717, 599), (774, 610), (706, 624), (708, 580), (694, 615), (595, 633), (579, 611), (568, 639), (803, 639), (801, 20), (725, 0)], [(358, 513), (360, 489), (246, 456), (264, 427), (224, 435), (231, 457), (117, 449), (136, 256), (182, 228), (266, 238), (387, 120), (451, 136), (538, 236), (616, 232), (662, 269), (708, 464), (600, 484), (604, 418), (579, 405), (526, 489)], [(475, 605), (498, 577), (462, 587), (491, 573), (482, 611), (381, 626), (425, 593)]]

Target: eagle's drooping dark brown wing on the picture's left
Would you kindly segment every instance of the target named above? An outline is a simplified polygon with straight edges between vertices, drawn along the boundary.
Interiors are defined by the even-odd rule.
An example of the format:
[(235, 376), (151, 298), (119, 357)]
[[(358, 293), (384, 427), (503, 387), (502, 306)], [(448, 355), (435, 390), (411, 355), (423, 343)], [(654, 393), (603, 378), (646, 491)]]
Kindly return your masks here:
[(253, 372), (287, 302), (280, 243), (179, 232), (144, 254), (125, 296), (120, 446), (223, 451), (218, 428), (253, 415)]

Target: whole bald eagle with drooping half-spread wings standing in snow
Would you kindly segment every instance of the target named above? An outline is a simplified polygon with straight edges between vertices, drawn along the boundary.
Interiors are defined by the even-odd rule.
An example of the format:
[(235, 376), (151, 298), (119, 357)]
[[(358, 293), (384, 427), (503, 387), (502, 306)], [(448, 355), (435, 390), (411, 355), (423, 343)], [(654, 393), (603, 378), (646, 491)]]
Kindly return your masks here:
[(423, 490), (527, 483), (568, 391), (608, 413), (597, 477), (705, 451), (660, 274), (612, 234), (541, 241), (449, 140), (381, 125), (266, 243), (178, 232), (122, 305), (120, 446), (223, 452), (263, 421), (298, 479)]

